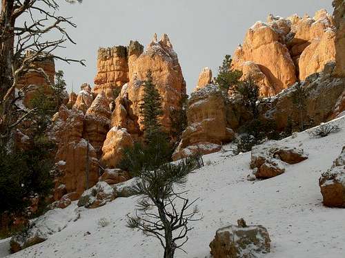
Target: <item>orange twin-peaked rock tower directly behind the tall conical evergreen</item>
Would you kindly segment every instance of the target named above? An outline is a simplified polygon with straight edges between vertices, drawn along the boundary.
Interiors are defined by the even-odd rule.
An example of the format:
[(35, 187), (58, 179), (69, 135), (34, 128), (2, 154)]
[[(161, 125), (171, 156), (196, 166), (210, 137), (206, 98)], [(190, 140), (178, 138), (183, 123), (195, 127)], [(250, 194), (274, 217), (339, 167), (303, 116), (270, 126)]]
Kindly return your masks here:
[(128, 83), (128, 100), (130, 110), (138, 117), (140, 131), (144, 130), (140, 114), (140, 104), (144, 94), (143, 82), (150, 69), (155, 85), (161, 96), (164, 114), (161, 116), (161, 125), (165, 131), (170, 131), (170, 110), (181, 109), (180, 100), (186, 94), (186, 83), (182, 75), (177, 54), (166, 34), (158, 41), (157, 36), (148, 45), (146, 51), (138, 56), (130, 65), (130, 81)]

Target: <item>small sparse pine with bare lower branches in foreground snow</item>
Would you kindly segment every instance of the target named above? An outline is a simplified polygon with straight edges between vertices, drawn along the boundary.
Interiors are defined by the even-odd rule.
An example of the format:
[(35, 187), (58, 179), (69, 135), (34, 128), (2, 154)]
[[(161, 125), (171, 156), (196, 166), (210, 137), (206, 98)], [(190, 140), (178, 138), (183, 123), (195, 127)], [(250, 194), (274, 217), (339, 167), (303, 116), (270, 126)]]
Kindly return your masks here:
[(128, 227), (159, 239), (164, 258), (174, 257), (177, 249), (183, 250), (187, 234), (193, 229), (190, 222), (201, 219), (196, 217), (199, 213), (194, 206), (197, 200), (190, 202), (183, 197), (186, 191), (177, 193), (173, 189), (174, 184), (186, 182), (186, 176), (196, 165), (195, 160), (186, 160), (164, 164), (154, 171), (143, 171), (139, 176), (141, 182), (132, 187), (133, 193), (141, 195), (141, 199), (135, 216), (128, 216)]

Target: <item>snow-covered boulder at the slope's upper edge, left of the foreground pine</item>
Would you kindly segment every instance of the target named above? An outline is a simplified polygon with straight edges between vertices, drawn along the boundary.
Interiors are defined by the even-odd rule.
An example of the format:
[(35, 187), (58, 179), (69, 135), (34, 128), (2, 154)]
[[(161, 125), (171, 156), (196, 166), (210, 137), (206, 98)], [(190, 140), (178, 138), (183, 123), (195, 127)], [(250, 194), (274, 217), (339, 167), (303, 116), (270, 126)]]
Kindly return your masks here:
[(83, 192), (77, 205), (79, 207), (98, 208), (115, 200), (116, 197), (117, 195), (109, 184), (98, 182), (95, 186)]

